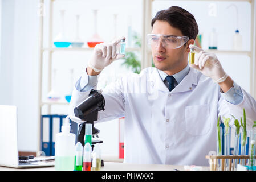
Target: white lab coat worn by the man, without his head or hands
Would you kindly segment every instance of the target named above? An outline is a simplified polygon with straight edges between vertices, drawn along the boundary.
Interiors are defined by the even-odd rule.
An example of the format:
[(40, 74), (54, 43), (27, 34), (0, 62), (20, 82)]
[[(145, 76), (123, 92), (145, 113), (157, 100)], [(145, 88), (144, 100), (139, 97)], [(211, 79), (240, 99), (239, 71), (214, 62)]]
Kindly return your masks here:
[[(74, 89), (70, 114), (89, 92)], [(125, 163), (209, 166), (205, 156), (216, 151), (218, 115), (240, 118), (245, 108), (248, 129), (256, 120), (254, 98), (242, 93), (240, 104), (230, 104), (218, 84), (193, 68), (169, 92), (157, 69), (149, 67), (103, 89), (105, 110), (97, 122), (125, 117)]]

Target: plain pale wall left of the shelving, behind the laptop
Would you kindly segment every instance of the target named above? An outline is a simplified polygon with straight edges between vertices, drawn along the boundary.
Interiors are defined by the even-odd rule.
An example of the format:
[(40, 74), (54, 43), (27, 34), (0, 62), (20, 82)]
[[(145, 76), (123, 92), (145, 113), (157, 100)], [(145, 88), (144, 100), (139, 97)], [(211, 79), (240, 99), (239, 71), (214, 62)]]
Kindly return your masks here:
[(1, 104), (18, 106), (21, 151), (36, 151), (38, 1), (3, 0)]

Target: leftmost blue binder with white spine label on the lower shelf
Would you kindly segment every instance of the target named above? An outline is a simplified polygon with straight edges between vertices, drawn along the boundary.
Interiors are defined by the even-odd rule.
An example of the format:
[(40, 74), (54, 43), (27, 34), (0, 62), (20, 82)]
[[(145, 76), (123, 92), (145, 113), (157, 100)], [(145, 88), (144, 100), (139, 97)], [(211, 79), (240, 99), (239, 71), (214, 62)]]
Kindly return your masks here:
[(41, 141), (42, 151), (46, 156), (51, 156), (52, 142), (52, 120), (51, 115), (42, 115), (41, 118)]

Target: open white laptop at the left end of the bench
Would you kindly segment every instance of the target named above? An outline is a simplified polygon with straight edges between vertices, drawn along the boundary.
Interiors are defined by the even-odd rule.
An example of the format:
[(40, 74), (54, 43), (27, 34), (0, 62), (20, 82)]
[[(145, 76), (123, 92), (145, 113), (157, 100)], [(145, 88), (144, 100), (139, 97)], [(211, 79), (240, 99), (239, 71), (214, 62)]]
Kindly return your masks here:
[(54, 162), (19, 162), (17, 106), (0, 105), (0, 166), (14, 168), (54, 166)]

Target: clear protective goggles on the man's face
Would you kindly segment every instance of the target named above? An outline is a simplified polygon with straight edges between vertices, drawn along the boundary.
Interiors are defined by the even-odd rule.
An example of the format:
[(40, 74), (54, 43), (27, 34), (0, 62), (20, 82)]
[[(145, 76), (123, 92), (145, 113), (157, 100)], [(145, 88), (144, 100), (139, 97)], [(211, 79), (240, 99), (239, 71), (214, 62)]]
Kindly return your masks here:
[(188, 42), (188, 36), (174, 36), (174, 35), (163, 35), (163, 34), (148, 34), (147, 40), (149, 46), (158, 46), (161, 41), (162, 46), (170, 49), (177, 49)]

